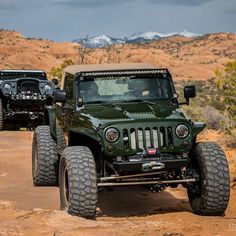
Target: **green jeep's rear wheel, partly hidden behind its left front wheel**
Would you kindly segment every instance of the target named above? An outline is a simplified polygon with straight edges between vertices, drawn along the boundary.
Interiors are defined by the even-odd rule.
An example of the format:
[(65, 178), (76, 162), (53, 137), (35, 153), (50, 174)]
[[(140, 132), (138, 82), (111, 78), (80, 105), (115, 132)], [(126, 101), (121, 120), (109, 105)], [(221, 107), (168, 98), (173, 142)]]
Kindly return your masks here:
[(49, 126), (38, 126), (32, 145), (32, 175), (36, 186), (58, 185), (58, 154)]

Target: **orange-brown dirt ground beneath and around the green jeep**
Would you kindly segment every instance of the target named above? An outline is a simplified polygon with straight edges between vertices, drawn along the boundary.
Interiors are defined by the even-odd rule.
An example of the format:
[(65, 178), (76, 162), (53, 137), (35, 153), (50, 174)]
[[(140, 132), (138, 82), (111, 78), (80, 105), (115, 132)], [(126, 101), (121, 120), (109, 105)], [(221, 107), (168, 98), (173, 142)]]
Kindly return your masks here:
[(100, 194), (97, 220), (59, 210), (53, 187), (33, 187), (32, 132), (0, 133), (0, 236), (5, 235), (236, 235), (236, 192), (223, 217), (194, 215), (185, 189), (151, 193), (117, 188)]

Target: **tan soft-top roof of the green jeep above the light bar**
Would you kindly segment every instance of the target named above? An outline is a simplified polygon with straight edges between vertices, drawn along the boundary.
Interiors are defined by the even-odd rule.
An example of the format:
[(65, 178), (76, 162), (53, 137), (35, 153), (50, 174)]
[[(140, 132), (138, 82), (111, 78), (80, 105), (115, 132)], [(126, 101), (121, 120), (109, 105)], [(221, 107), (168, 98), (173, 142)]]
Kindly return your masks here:
[(123, 70), (144, 70), (158, 69), (158, 67), (145, 63), (114, 63), (114, 64), (87, 64), (87, 65), (70, 65), (65, 68), (65, 72), (76, 74), (80, 72), (96, 71), (123, 71)]

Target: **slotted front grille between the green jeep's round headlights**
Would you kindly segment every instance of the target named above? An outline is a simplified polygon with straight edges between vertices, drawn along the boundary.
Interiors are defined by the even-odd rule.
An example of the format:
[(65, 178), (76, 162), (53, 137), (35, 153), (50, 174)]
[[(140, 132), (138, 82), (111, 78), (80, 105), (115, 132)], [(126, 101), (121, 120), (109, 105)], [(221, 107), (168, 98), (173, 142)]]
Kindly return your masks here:
[(160, 148), (173, 145), (172, 127), (140, 127), (123, 129), (123, 143), (126, 150)]

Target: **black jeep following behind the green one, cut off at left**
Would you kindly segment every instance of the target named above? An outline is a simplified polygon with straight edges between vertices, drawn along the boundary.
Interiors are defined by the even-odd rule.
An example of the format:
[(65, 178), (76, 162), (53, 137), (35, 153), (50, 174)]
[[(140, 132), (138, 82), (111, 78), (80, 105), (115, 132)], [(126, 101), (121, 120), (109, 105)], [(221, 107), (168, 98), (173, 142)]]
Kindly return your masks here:
[(41, 124), (54, 87), (42, 70), (0, 70), (0, 130)]

